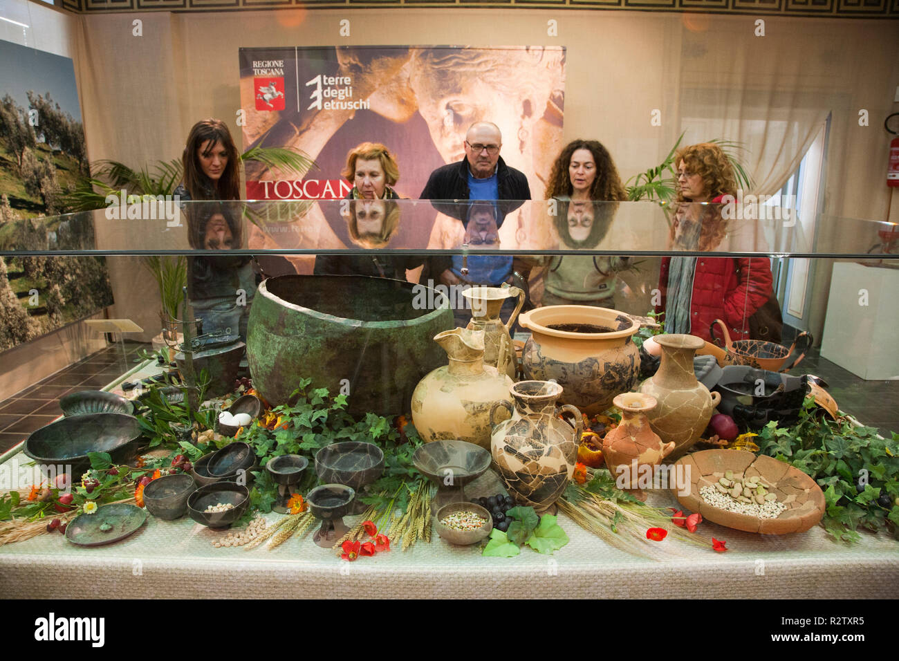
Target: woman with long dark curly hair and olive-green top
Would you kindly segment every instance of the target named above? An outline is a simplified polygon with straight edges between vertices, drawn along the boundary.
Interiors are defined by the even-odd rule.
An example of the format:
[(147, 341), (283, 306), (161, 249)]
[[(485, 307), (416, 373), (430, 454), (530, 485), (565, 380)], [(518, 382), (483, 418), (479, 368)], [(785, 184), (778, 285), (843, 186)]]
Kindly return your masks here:
[[(556, 158), (549, 175), (547, 199), (558, 200), (556, 232), (567, 248), (599, 245), (618, 202), (628, 199), (618, 169), (597, 140), (574, 140)], [(526, 258), (547, 266), (543, 305), (592, 305), (614, 308), (617, 272), (630, 257), (565, 255)]]

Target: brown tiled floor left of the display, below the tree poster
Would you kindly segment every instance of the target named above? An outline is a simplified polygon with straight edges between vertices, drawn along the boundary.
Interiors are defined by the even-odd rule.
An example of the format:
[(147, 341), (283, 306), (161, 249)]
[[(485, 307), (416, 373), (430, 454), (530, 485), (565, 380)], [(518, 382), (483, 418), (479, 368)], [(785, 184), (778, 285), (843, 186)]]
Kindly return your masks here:
[(0, 453), (62, 415), (60, 397), (79, 390), (101, 389), (129, 371), (141, 350), (150, 351), (150, 345), (125, 343), (127, 357), (122, 356), (119, 344), (110, 345), (0, 402)]

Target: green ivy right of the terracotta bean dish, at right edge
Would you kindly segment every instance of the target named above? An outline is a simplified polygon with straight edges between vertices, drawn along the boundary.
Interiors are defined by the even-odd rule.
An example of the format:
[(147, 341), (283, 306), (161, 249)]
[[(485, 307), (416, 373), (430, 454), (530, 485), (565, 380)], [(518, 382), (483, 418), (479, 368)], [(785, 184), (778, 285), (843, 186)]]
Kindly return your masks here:
[[(822, 525), (837, 541), (857, 541), (859, 527), (886, 530), (899, 539), (899, 437), (880, 438), (877, 429), (849, 420), (832, 421), (807, 397), (797, 424), (770, 422), (753, 437), (761, 453), (787, 461), (823, 488), (827, 508)], [(859, 492), (859, 478), (864, 488)], [(891, 504), (877, 498), (891, 496)]]

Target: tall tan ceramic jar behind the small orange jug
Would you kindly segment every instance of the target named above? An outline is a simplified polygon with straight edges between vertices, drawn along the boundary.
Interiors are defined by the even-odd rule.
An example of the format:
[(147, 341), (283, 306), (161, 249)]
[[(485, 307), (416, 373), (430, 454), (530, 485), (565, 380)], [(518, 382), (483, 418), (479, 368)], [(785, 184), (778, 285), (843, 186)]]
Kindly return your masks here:
[(675, 460), (706, 431), (721, 395), (710, 393), (693, 371), (693, 355), (706, 344), (701, 338), (672, 334), (655, 335), (654, 340), (662, 347), (662, 363), (653, 377), (640, 384), (639, 391), (658, 402), (646, 418), (663, 442), (674, 443), (666, 459)]

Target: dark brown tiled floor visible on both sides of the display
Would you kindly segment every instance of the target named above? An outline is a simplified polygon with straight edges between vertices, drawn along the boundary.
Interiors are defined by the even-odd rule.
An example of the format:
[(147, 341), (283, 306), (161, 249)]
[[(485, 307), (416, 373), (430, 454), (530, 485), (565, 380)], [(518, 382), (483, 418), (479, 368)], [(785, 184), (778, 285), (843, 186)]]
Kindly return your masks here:
[[(149, 351), (150, 346), (126, 343), (125, 348), (127, 362), (120, 346), (111, 345), (0, 402), (0, 453), (62, 415), (60, 397), (78, 390), (102, 388), (134, 367), (138, 353)], [(861, 380), (821, 358), (816, 349), (791, 373), (821, 377), (828, 382), (828, 392), (842, 410), (864, 424), (879, 427), (887, 437), (893, 431), (899, 432), (899, 381)]]

